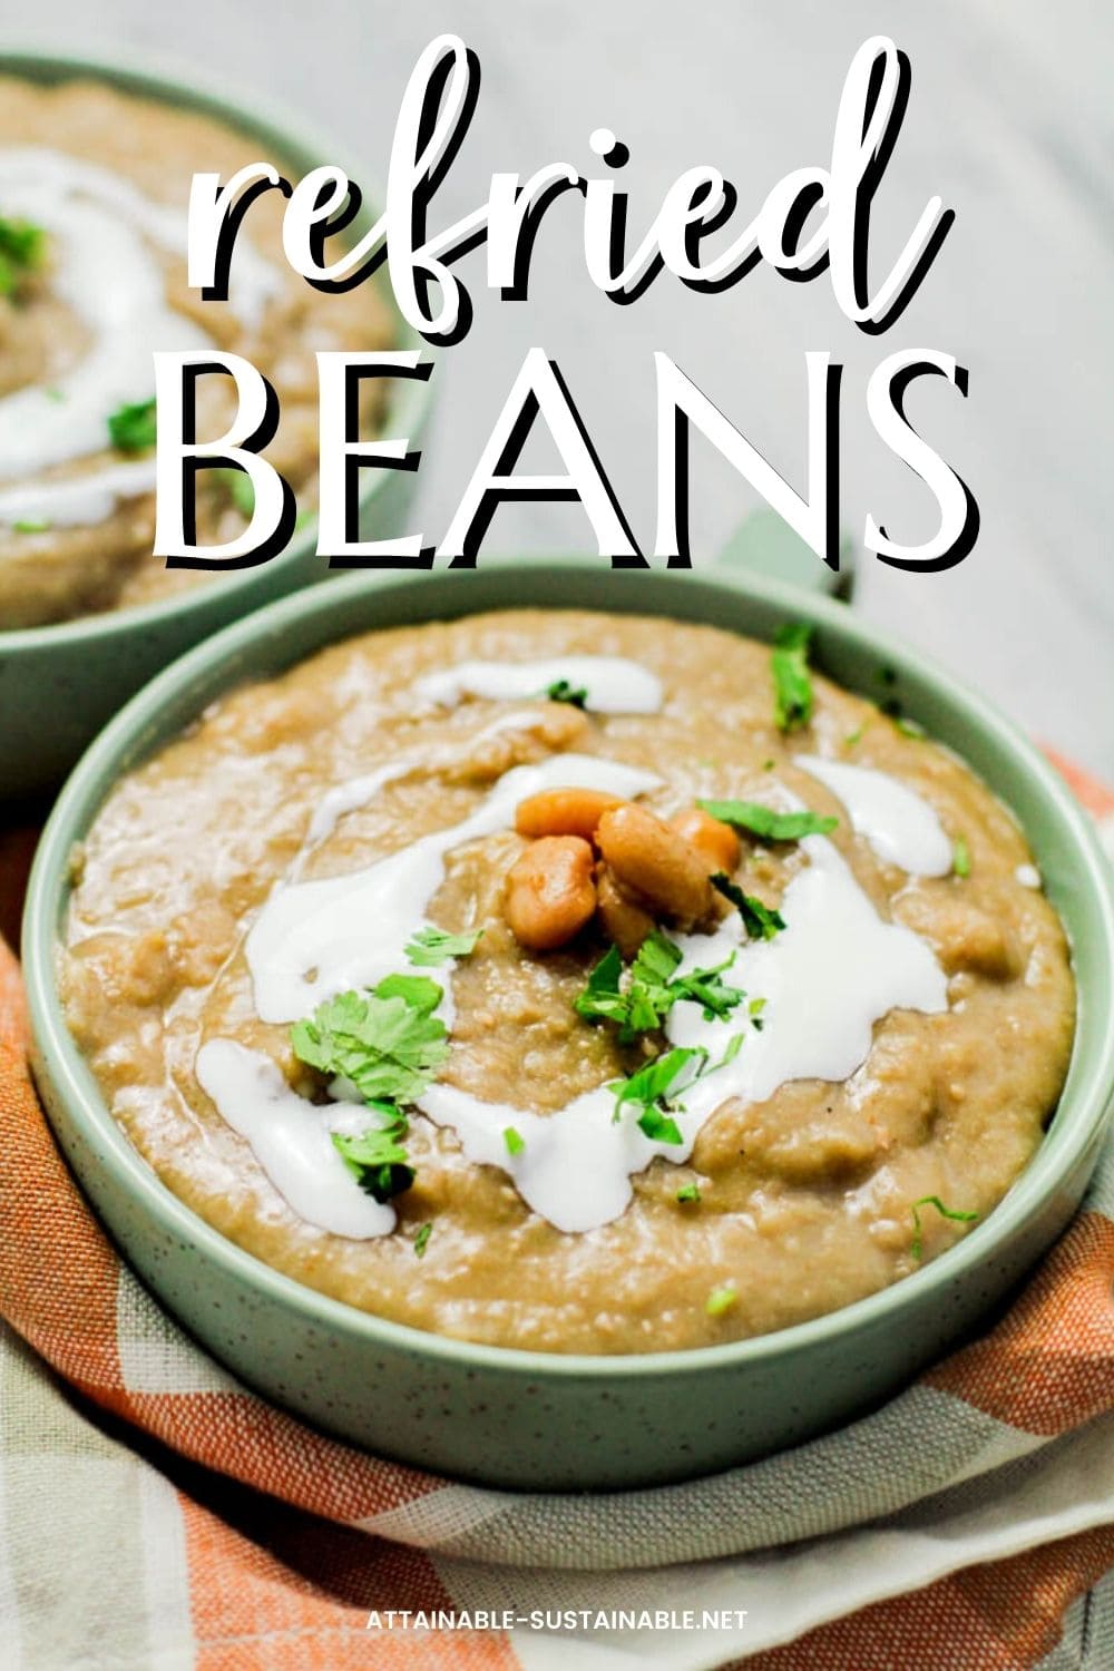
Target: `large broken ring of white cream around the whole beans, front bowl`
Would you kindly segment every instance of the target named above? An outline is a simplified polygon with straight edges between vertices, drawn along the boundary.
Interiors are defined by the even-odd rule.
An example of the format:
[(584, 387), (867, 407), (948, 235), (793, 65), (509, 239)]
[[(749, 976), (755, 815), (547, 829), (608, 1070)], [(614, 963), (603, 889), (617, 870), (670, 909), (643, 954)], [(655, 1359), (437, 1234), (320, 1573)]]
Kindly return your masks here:
[[(311, 841), (321, 841), (337, 817), (411, 769), (413, 762), (394, 762), (331, 790), (311, 820)], [(651, 774), (615, 760), (554, 755), (539, 765), (511, 769), (469, 819), (424, 836), (374, 866), (351, 876), (276, 887), (246, 942), (261, 1018), (294, 1021), (336, 993), (371, 986), (406, 968), (404, 946), (426, 921), (429, 901), (444, 877), (446, 854), (509, 825), (524, 795), (580, 785), (635, 797), (656, 784)], [(904, 805), (902, 810), (907, 812)], [(899, 847), (904, 851), (905, 844)], [(762, 1101), (790, 1079), (847, 1079), (870, 1051), (875, 1021), (899, 1008), (945, 1009), (947, 983), (925, 941), (879, 917), (827, 837), (810, 836), (802, 849), (808, 866), (785, 891), (780, 907), (785, 929), (775, 939), (745, 941), (737, 916), (715, 934), (678, 937), (683, 969), (715, 966), (733, 956), (730, 983), (750, 998), (765, 999), (762, 1031), (745, 1004), (728, 1021), (705, 1021), (696, 1004), (675, 1006), (666, 1024), (670, 1043), (705, 1049), (711, 1069), (680, 1093), (683, 1108), (675, 1120), (681, 1145), (646, 1138), (630, 1111), (615, 1121), (615, 1096), (605, 1084), (556, 1113), (536, 1115), (439, 1083), (419, 1098), (421, 1111), (456, 1131), (469, 1161), (508, 1173), (523, 1200), (558, 1230), (585, 1232), (623, 1213), (631, 1198), (631, 1176), (655, 1155), (686, 1160), (703, 1123), (728, 1098)], [(441, 1014), (451, 1026), (448, 983)], [(802, 1016), (808, 1018), (807, 1026)], [(723, 1064), (740, 1033), (742, 1048)], [(341, 1103), (307, 1108), (267, 1056), (229, 1039), (204, 1046), (197, 1074), (219, 1111), (249, 1140), (264, 1171), (304, 1218), (337, 1235), (382, 1235), (392, 1228), (392, 1208), (371, 1203), (366, 1210), (362, 1201), (367, 1198), (356, 1200), (359, 1185), (329, 1138), (334, 1130), (366, 1126), (366, 1111)], [(524, 1140), (514, 1156), (506, 1150), (506, 1126), (514, 1126)], [(344, 1228), (354, 1223), (356, 1228)]]

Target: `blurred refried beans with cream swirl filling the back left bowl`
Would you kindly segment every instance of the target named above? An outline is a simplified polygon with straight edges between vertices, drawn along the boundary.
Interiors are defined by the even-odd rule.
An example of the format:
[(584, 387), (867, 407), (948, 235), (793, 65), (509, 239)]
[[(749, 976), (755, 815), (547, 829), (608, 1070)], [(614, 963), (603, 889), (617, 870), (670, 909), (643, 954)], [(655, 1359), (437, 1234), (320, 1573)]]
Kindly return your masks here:
[[(269, 197), (252, 209), (259, 242), (237, 239), (229, 301), (187, 287), (192, 174), (227, 179), (257, 149), (212, 117), (107, 85), (0, 77), (0, 628), (197, 582), (200, 571), (167, 571), (152, 556), (154, 419), (144, 408), (155, 349), (217, 346), (259, 366), (282, 413), (266, 456), (312, 508), (314, 353), (384, 346), (391, 326), (369, 286), (326, 296), (272, 259), (281, 204)], [(364, 379), (364, 391), (367, 426), (381, 384)], [(227, 379), (202, 379), (199, 438), (224, 433), (232, 411)], [(244, 483), (200, 473), (200, 543), (242, 530)]]

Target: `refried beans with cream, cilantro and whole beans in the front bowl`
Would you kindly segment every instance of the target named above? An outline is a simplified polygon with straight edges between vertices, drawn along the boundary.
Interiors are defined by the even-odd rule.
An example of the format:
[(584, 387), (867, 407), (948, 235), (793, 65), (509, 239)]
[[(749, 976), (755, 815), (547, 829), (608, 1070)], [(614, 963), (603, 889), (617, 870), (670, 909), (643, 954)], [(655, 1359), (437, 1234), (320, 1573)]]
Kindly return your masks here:
[(504, 612), (326, 650), (127, 775), (62, 984), (130, 1140), (259, 1258), (444, 1335), (665, 1352), (995, 1208), (1072, 1041), (1039, 882), (803, 652)]

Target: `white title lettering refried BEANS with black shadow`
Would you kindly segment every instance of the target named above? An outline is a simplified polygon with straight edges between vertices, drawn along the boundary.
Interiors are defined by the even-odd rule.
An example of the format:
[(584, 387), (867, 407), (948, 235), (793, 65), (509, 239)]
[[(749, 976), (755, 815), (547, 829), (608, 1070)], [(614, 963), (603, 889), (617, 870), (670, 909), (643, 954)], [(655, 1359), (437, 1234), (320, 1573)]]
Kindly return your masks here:
[[(870, 209), (909, 102), (909, 60), (887, 37), (867, 40), (852, 60), (835, 119), (827, 167), (795, 169), (780, 179), (747, 226), (738, 227), (738, 194), (708, 165), (683, 172), (665, 194), (641, 239), (626, 231), (626, 192), (616, 182), (626, 147), (608, 129), (590, 145), (610, 170), (583, 175), (571, 162), (553, 162), (523, 180), (494, 174), (486, 201), (443, 231), (429, 231), (431, 207), (468, 132), (479, 94), (476, 55), (454, 35), (424, 50), (409, 80), (394, 132), (382, 216), (357, 241), (344, 241), (361, 211), (359, 185), (332, 165), (312, 169), (297, 184), (266, 160), (230, 180), (195, 174), (189, 206), (189, 282), (202, 297), (227, 297), (235, 239), (251, 206), (266, 192), (286, 197), (282, 257), (324, 291), (366, 282), (386, 264), (403, 317), (434, 346), (459, 343), (473, 319), (473, 301), (456, 264), (486, 246), (486, 286), (506, 301), (529, 291), (533, 244), (551, 204), (566, 192), (583, 199), (583, 254), (591, 282), (615, 302), (635, 302), (663, 272), (688, 289), (728, 289), (767, 262), (795, 281), (827, 272), (840, 311), (862, 331), (887, 331), (912, 301), (954, 221), (932, 197), (884, 279), (870, 284)], [(728, 236), (723, 244), (713, 234)], [(842, 366), (827, 351), (805, 353), (808, 413), (807, 491), (798, 493), (762, 456), (685, 371), (655, 353), (658, 491), (653, 556), (688, 566), (688, 449), (700, 431), (753, 490), (797, 530), (818, 558), (838, 566), (838, 426)], [(409, 438), (364, 441), (356, 428), (361, 378), (428, 379), (433, 363), (421, 353), (319, 353), (319, 521), (317, 551), (334, 566), (474, 566), (499, 503), (514, 498), (576, 500), (596, 548), (615, 565), (648, 566), (576, 411), (556, 363), (531, 348), (498, 413), (456, 513), (436, 546), (423, 535), (361, 540), (357, 505), (367, 468), (413, 470), (419, 456)], [(225, 434), (195, 436), (195, 381), (230, 376), (239, 409)], [(880, 561), (909, 570), (942, 570), (974, 546), (979, 508), (955, 470), (912, 428), (904, 413), (909, 384), (942, 376), (962, 396), (967, 373), (939, 349), (902, 349), (885, 356), (867, 379), (867, 414), (884, 444), (927, 485), (939, 505), (937, 531), (902, 545), (867, 515), (863, 545)], [(242, 356), (215, 349), (155, 354), (159, 404), (159, 510), (155, 555), (169, 566), (241, 568), (267, 561), (294, 531), (289, 485), (261, 456), (279, 408), (267, 379)], [(528, 434), (541, 419), (565, 473), (516, 475)], [(205, 468), (244, 470), (254, 488), (254, 513), (244, 531), (217, 546), (192, 543), (195, 476)]]

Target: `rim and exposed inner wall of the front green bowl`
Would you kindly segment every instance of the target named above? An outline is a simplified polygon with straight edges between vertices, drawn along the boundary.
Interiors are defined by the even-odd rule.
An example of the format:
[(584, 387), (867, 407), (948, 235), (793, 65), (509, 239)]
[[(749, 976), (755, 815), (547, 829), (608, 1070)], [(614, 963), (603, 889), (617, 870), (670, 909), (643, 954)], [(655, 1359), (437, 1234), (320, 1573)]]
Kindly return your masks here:
[[(369, 1313), (304, 1288), (271, 1270), (190, 1213), (132, 1150), (109, 1115), (100, 1091), (68, 1034), (55, 989), (55, 951), (67, 907), (70, 847), (97, 815), (115, 779), (174, 737), (229, 687), (267, 677), (311, 655), (326, 643), (374, 627), (474, 613), (486, 608), (578, 608), (650, 613), (663, 618), (706, 622), (757, 638), (770, 638), (787, 618), (815, 627), (817, 667), (863, 695), (879, 693), (879, 670), (895, 670), (897, 695), (905, 710), (940, 742), (955, 749), (1012, 807), (1024, 825), (1046, 889), (1059, 909), (1072, 942), (1079, 986), (1079, 1019), (1067, 1084), (1034, 1161), (985, 1223), (924, 1270), (900, 1283), (858, 1300), (840, 1312), (793, 1325), (775, 1335), (703, 1347), (695, 1352), (596, 1359), (548, 1357), (504, 1347), (479, 1347), (387, 1323)], [(666, 627), (668, 630), (668, 627)], [(1111, 966), (1114, 964), (1114, 897), (1106, 859), (1089, 819), (1059, 775), (990, 705), (965, 692), (949, 675), (915, 652), (857, 620), (843, 605), (802, 590), (753, 576), (668, 575), (613, 571), (600, 560), (523, 560), (486, 565), (476, 571), (397, 576), (357, 575), (274, 603), (246, 622), (225, 628), (189, 652), (152, 680), (112, 720), (89, 749), (67, 782), (43, 832), (32, 874), (23, 922), (25, 974), (32, 1026), (52, 1079), (95, 1136), (104, 1163), (115, 1168), (145, 1206), (209, 1257), (247, 1275), (301, 1315), (371, 1342), (409, 1342), (411, 1350), (434, 1359), (518, 1364), (536, 1377), (623, 1375), (666, 1377), (686, 1374), (703, 1360), (745, 1362), (768, 1354), (807, 1348), (818, 1338), (857, 1322), (900, 1313), (902, 1300), (932, 1290), (942, 1293), (954, 1277), (994, 1255), (995, 1247), (1039, 1213), (1086, 1156), (1097, 1156), (1114, 1088), (1114, 1031), (1109, 1028)]]

